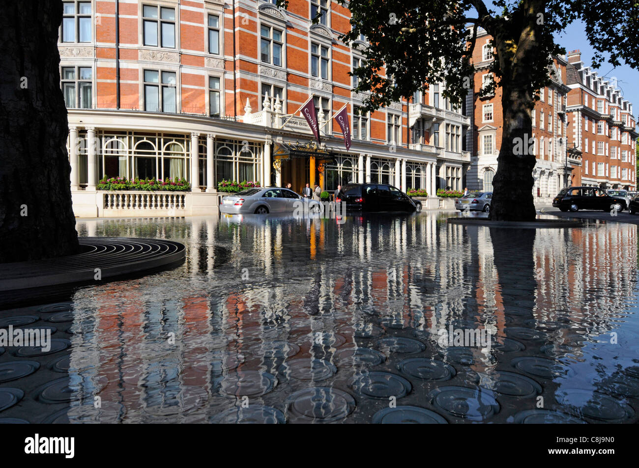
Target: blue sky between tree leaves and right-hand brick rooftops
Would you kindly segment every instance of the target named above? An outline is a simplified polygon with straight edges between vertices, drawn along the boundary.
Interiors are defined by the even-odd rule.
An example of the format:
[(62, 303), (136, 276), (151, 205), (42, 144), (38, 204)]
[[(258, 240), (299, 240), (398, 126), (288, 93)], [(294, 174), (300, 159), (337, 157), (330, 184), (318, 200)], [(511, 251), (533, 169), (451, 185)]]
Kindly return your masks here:
[[(574, 22), (560, 34), (555, 36), (555, 42), (566, 48), (566, 53), (579, 49), (581, 61), (586, 66), (592, 66), (593, 49), (590, 47), (585, 33), (583, 22)], [(617, 78), (617, 87), (622, 90), (625, 99), (633, 104), (633, 114), (639, 113), (639, 70), (635, 70), (626, 64), (613, 67), (610, 63), (604, 62), (596, 70), (601, 76)]]

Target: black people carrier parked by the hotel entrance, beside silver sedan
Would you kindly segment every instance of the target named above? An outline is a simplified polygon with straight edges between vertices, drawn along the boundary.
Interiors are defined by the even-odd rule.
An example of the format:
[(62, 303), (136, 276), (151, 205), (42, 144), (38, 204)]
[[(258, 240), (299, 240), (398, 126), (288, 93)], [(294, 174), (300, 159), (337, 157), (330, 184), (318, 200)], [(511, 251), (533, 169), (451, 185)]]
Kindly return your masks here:
[(422, 211), (422, 204), (413, 200), (406, 193), (387, 184), (348, 184), (344, 185), (337, 197), (337, 203), (346, 203), (346, 209), (368, 212), (402, 212)]

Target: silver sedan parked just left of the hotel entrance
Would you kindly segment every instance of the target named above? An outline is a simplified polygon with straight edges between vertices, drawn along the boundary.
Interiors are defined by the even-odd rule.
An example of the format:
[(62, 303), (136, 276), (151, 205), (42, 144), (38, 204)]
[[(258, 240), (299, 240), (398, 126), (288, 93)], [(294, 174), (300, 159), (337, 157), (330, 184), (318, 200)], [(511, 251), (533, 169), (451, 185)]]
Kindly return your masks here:
[[(308, 208), (300, 205), (305, 203), (308, 203)], [(242, 192), (222, 197), (220, 213), (265, 215), (266, 213), (293, 213), (296, 209), (304, 209), (304, 211), (313, 213), (319, 211), (320, 208), (319, 202), (303, 199), (288, 188), (258, 187), (247, 188)]]

